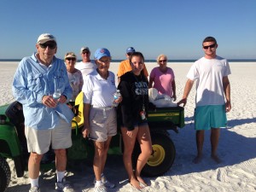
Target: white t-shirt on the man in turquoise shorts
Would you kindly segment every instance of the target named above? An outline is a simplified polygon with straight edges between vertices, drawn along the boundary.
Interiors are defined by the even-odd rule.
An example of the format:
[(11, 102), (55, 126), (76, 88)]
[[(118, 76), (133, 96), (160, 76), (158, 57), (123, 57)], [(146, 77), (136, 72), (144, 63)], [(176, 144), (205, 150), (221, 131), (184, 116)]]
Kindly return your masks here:
[(219, 56), (214, 59), (202, 57), (189, 69), (187, 78), (196, 80), (196, 106), (223, 105), (223, 78), (230, 75), (229, 62)]

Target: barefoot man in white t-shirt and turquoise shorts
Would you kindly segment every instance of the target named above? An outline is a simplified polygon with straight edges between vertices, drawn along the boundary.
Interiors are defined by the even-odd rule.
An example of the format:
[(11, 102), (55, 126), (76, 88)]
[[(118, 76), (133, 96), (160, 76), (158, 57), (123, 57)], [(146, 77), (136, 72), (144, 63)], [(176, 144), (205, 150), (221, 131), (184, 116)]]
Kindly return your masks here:
[(201, 162), (205, 130), (211, 129), (212, 160), (220, 163), (217, 155), (219, 128), (226, 127), (226, 112), (230, 112), (230, 75), (229, 62), (216, 55), (218, 44), (215, 38), (203, 40), (204, 57), (195, 61), (187, 74), (183, 99), (178, 105), (187, 103), (189, 92), (196, 81), (195, 130), (197, 156), (194, 163)]

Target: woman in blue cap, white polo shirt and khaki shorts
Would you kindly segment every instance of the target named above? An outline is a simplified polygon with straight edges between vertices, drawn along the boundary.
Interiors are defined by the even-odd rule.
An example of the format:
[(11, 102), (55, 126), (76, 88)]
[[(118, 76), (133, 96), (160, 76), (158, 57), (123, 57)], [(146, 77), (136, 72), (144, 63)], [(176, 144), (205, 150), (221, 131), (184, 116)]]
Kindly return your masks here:
[[(111, 138), (117, 133), (116, 109), (113, 94), (116, 92), (115, 75), (108, 71), (111, 55), (108, 49), (95, 52), (96, 70), (84, 79), (84, 129), (83, 137), (90, 137), (95, 146), (93, 169), (96, 176), (94, 191), (107, 191), (114, 184), (103, 175)], [(121, 102), (119, 97), (114, 102)], [(90, 136), (89, 136), (90, 134)]]

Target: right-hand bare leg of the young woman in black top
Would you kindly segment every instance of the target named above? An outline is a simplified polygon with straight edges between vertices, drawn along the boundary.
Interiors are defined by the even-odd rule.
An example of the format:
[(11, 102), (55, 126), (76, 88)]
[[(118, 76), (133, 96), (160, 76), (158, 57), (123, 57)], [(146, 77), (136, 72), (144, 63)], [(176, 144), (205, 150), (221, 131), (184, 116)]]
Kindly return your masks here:
[(140, 144), (142, 153), (139, 154), (137, 158), (137, 168), (135, 171), (135, 176), (140, 183), (143, 183), (144, 186), (147, 186), (148, 184), (145, 183), (143, 177), (141, 177), (141, 172), (143, 170), (143, 167), (147, 163), (149, 156), (152, 153), (152, 143), (148, 125), (142, 125), (139, 127), (137, 133), (137, 141)]

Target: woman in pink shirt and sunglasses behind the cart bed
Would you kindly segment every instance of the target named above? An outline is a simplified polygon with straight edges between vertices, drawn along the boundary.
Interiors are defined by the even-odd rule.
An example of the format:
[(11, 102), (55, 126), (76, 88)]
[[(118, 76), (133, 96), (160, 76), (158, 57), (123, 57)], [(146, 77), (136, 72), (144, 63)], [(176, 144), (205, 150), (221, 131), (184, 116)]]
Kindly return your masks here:
[[(157, 57), (159, 67), (154, 67), (149, 76), (148, 88), (155, 88), (159, 94), (166, 94), (176, 101), (175, 76), (171, 67), (167, 67), (167, 56), (159, 55)], [(154, 84), (153, 84), (154, 83)], [(152, 86), (153, 85), (153, 86)]]

